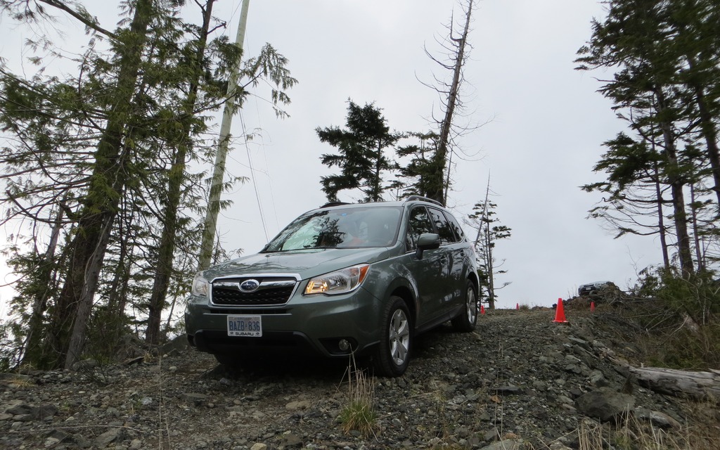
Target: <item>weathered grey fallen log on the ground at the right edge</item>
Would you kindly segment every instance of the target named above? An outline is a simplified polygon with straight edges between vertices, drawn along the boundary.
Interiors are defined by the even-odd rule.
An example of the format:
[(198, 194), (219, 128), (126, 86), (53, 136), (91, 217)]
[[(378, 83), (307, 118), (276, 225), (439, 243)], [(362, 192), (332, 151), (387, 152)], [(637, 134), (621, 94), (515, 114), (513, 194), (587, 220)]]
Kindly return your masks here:
[(655, 392), (676, 397), (720, 402), (720, 370), (690, 372), (660, 367), (628, 366), (639, 384)]

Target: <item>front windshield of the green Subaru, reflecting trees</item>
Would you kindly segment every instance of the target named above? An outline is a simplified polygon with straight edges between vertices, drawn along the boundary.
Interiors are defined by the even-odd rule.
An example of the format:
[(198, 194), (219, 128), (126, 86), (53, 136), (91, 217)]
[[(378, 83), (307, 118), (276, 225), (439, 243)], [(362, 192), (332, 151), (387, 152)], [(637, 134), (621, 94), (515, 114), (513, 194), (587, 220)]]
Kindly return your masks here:
[(385, 247), (395, 242), (400, 207), (352, 207), (309, 212), (280, 232), (263, 252), (308, 248)]

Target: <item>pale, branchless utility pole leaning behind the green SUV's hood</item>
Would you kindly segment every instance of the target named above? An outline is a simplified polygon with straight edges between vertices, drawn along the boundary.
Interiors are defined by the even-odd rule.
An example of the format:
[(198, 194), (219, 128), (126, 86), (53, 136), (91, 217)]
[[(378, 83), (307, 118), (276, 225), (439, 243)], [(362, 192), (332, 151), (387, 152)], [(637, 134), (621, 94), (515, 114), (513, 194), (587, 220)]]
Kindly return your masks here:
[[(240, 23), (238, 24), (238, 35), (235, 37), (235, 45), (237, 45), (240, 50), (243, 50), (249, 5), (250, 0), (243, 0), (243, 9), (240, 12)], [(242, 55), (240, 55), (240, 58), (242, 58)], [(220, 212), (222, 179), (225, 176), (225, 158), (228, 156), (228, 143), (230, 142), (230, 125), (233, 122), (235, 97), (238, 94), (236, 91), (238, 89), (239, 73), (240, 61), (238, 60), (238, 66), (233, 69), (233, 73), (230, 73), (230, 80), (228, 80), (228, 101), (225, 102), (225, 109), (222, 111), (220, 139), (218, 140), (217, 153), (215, 154), (215, 169), (212, 171), (210, 197), (207, 199), (207, 213), (202, 231), (198, 270), (207, 269), (212, 259), (212, 248), (215, 244), (215, 231), (217, 230), (217, 214)]]

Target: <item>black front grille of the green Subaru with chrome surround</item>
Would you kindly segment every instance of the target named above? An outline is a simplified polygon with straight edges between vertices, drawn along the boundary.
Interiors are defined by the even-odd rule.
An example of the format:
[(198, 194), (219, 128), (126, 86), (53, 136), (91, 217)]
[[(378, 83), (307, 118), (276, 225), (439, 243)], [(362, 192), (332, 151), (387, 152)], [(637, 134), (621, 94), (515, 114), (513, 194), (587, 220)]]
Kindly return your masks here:
[[(259, 283), (254, 292), (242, 292), (240, 284), (248, 280)], [(211, 299), (213, 305), (226, 306), (264, 306), (284, 305), (290, 300), (297, 280), (285, 276), (245, 276), (216, 279), (212, 282)]]

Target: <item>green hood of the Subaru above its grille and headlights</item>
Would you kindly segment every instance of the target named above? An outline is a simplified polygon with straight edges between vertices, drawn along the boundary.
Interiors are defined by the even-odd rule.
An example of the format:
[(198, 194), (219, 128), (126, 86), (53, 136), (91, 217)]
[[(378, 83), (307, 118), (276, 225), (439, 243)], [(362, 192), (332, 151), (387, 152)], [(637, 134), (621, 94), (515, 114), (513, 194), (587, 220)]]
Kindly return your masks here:
[(387, 256), (387, 248), (313, 248), (256, 253), (213, 266), (203, 275), (209, 280), (220, 276), (259, 274), (297, 274), (300, 279), (307, 279), (355, 264), (372, 264)]

